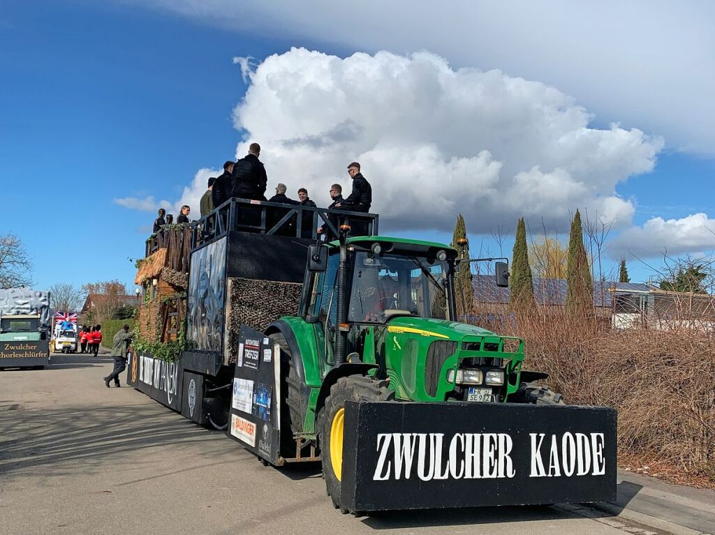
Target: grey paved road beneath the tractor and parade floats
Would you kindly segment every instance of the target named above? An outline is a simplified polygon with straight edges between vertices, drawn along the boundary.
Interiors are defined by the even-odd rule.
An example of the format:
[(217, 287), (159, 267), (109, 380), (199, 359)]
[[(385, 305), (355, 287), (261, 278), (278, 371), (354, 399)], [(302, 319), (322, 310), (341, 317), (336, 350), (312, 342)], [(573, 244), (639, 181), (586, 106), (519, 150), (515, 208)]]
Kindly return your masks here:
[[(138, 391), (105, 388), (102, 376), (111, 367), (106, 356), (53, 361), (43, 371), (0, 371), (3, 535), (705, 531), (684, 527), (684, 521), (658, 524), (636, 511), (614, 516), (620, 508), (579, 506), (342, 515), (330, 506), (315, 466), (262, 466), (220, 432), (202, 429)], [(699, 494), (678, 504), (667, 492), (646, 496), (645, 486), (626, 483), (625, 501), (635, 503), (643, 494), (651, 505), (661, 500), (686, 511), (687, 519), (681, 506), (698, 509), (701, 503)]]

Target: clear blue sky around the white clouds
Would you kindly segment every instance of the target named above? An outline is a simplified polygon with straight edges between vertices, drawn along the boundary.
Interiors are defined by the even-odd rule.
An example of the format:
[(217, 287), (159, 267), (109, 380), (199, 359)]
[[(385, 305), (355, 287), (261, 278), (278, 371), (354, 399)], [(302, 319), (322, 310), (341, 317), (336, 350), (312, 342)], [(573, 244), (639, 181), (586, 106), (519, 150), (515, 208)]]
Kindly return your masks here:
[[(114, 199), (154, 196), (176, 201), (199, 169), (217, 168), (234, 156), (242, 133), (235, 128), (232, 110), (247, 88), (234, 56), (260, 62), (292, 46), (341, 58), (356, 51), (374, 54), (383, 47), (395, 54), (432, 49), (429, 42), (400, 49), (372, 36), (365, 46), (357, 46), (332, 39), (328, 31), (301, 35), (258, 21), (217, 25), (202, 16), (177, 14), (162, 2), (151, 8), (136, 2), (102, 7), (88, 1), (4, 2), (0, 230), (24, 241), (34, 260), (36, 287), (107, 279), (132, 283), (134, 267), (128, 258), (142, 255), (154, 214), (127, 209)], [(709, 152), (709, 139), (687, 139), (686, 129), (665, 119), (661, 126), (650, 119), (640, 124), (637, 117), (621, 114), (618, 106), (609, 107), (609, 99), (599, 100), (590, 91), (575, 94), (578, 88), (552, 71), (539, 76), (530, 69), (520, 71), (506, 59), (500, 65), (497, 56), (480, 61), (450, 56), (448, 48), (433, 51), (455, 68), (496, 67), (556, 84), (594, 114), (595, 128), (608, 129), (611, 122), (622, 121), (624, 129), (663, 136), (665, 146), (654, 170), (615, 186), (615, 193), (635, 207), (631, 225), (698, 212), (713, 216), (715, 150)], [(683, 149), (698, 143), (696, 150)], [(267, 165), (270, 169), (270, 162)], [(327, 201), (312, 196), (319, 204)], [(536, 218), (531, 221), (538, 224)], [(385, 231), (390, 231), (389, 224), (383, 224)], [(418, 231), (395, 227), (395, 232), (448, 238), (447, 232), (429, 226)], [(696, 244), (689, 252), (706, 251), (706, 245)], [(493, 243), (491, 248), (494, 251)], [(629, 265), (634, 279), (649, 275), (637, 261)]]

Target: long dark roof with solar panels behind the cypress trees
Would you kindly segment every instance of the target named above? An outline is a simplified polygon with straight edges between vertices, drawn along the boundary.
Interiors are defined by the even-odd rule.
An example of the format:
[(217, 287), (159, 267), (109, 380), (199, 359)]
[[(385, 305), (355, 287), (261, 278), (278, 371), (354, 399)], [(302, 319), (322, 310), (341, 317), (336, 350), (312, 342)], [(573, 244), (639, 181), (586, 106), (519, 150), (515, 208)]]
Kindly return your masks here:
[[(510, 291), (496, 285), (493, 275), (475, 275), (473, 278), (474, 298), (482, 303), (506, 304)], [(562, 306), (566, 303), (566, 279), (533, 279), (536, 302), (547, 306)], [(596, 306), (610, 308), (613, 294), (628, 291), (649, 291), (648, 284), (616, 281), (596, 281), (593, 284), (593, 303)]]

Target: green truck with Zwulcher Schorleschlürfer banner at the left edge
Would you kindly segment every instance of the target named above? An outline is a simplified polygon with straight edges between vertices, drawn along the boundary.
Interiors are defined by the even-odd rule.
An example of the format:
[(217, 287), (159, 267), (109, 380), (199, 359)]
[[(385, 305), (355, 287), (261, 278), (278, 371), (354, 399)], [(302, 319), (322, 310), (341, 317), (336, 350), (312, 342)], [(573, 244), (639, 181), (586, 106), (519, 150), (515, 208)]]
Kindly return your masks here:
[(0, 289), (0, 369), (49, 364), (49, 292)]

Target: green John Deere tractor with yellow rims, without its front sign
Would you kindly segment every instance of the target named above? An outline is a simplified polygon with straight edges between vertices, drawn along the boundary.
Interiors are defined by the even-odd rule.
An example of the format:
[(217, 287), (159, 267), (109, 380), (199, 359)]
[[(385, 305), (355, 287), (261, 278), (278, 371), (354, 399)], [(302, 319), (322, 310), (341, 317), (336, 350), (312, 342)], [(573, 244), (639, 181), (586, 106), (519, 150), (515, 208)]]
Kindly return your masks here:
[[(531, 382), (546, 374), (522, 371), (523, 341), (457, 321), (455, 274), (468, 261), (459, 256), (342, 228), (337, 241), (310, 246), (299, 316), (266, 331), (281, 350), (281, 451), (295, 437), (299, 449), (317, 443), (336, 507), (343, 452), (353, 447), (347, 401), (563, 404)], [(507, 264), (495, 271), (507, 286)]]

